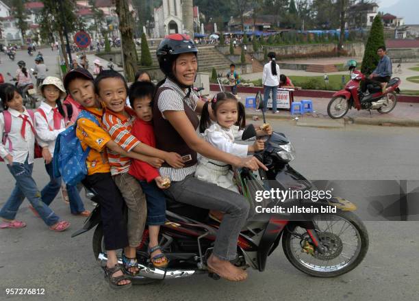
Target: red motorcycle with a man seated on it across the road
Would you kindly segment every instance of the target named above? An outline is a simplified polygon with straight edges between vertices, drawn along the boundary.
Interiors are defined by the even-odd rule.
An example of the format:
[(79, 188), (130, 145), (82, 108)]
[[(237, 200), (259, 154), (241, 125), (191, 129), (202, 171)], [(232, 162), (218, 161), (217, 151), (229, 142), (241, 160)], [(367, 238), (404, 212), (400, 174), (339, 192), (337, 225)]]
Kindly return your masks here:
[(348, 110), (355, 107), (358, 111), (360, 109), (377, 109), (381, 114), (388, 114), (396, 107), (397, 95), (400, 92), (398, 86), (401, 84), (401, 79), (394, 77), (390, 79), (385, 87), (385, 92), (382, 92), (381, 86), (369, 84), (367, 90), (369, 94), (364, 94), (359, 89), (361, 81), (366, 79), (366, 76), (351, 68), (351, 80), (346, 83), (343, 90), (333, 94), (329, 105), (327, 105), (327, 114), (333, 119), (342, 118), (348, 113)]

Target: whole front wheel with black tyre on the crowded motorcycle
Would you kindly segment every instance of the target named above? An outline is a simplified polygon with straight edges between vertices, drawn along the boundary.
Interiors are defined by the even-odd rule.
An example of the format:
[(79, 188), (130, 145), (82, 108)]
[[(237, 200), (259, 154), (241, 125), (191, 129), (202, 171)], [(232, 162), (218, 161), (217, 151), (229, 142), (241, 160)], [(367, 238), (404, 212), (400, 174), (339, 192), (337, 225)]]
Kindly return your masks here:
[[(291, 226), (292, 228), (289, 228), (288, 231), (285, 230), (285, 232), (283, 233), (282, 248), (287, 259), (290, 261), (292, 265), (294, 265), (294, 267), (296, 267), (296, 269), (311, 276), (327, 278), (345, 274), (353, 270), (355, 267), (357, 267), (357, 265), (359, 265), (359, 263), (361, 263), (368, 251), (369, 239), (366, 227), (364, 226), (364, 223), (361, 222), (361, 220), (359, 220), (357, 215), (348, 211), (338, 211), (338, 213), (333, 214), (315, 215), (314, 221), (316, 222), (316, 224), (318, 224), (320, 228), (320, 233), (318, 233), (320, 239), (322, 239), (323, 243), (329, 245), (330, 252), (328, 251), (326, 254), (320, 254), (316, 253), (315, 251), (313, 255), (301, 252), (302, 248), (301, 246), (299, 246), (300, 238), (295, 237), (295, 235), (292, 234), (292, 232), (301, 232), (297, 231), (297, 228), (299, 227), (296, 227), (296, 225)], [(322, 229), (320, 227), (320, 224), (325, 221), (327, 228)], [(338, 222), (346, 222), (346, 224), (349, 224), (353, 228), (353, 232), (355, 233), (356, 237), (355, 240), (357, 241), (357, 245), (355, 246), (356, 250), (353, 254), (353, 257), (347, 257), (346, 255), (349, 254), (344, 253), (344, 251), (348, 252), (348, 249), (350, 249), (350, 247), (347, 246), (353, 245), (349, 244), (347, 241), (342, 241), (342, 238), (340, 237), (341, 233), (338, 233), (338, 235), (333, 233), (333, 225), (337, 224)], [(338, 224), (337, 231), (342, 232), (344, 226), (345, 224), (343, 224), (342, 228), (340, 228), (341, 226), (340, 224)], [(305, 231), (304, 228), (299, 229)], [(294, 248), (293, 243), (294, 245), (297, 245), (299, 247)], [(334, 254), (333, 248), (337, 249), (335, 249), (335, 251), (337, 252), (335, 252)], [(325, 257), (333, 258), (327, 259)], [(347, 258), (348, 260), (337, 263), (335, 265), (328, 265), (329, 261), (339, 259), (340, 257)], [(315, 261), (317, 261), (317, 263), (314, 263)]]

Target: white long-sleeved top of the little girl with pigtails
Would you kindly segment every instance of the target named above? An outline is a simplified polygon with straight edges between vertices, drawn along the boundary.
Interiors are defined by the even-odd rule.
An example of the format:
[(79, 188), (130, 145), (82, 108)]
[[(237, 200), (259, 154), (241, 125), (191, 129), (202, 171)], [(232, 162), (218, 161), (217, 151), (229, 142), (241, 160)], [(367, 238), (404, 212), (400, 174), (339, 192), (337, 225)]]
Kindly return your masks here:
[[(205, 130), (201, 135), (203, 138), (225, 153), (236, 155), (238, 157), (247, 157), (249, 146), (246, 144), (234, 143), (235, 139), (242, 137), (243, 131), (239, 127), (233, 125), (229, 130), (224, 129), (218, 123), (213, 123), (211, 127)], [(214, 161), (214, 160), (211, 160)]]

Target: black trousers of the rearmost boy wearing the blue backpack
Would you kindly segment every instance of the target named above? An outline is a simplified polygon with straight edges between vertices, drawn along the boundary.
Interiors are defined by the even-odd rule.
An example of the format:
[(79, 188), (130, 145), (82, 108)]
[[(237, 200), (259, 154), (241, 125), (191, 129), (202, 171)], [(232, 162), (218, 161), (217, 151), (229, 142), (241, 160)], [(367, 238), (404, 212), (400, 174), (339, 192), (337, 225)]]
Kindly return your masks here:
[(82, 183), (99, 196), (105, 249), (128, 246), (127, 222), (123, 215), (124, 199), (110, 172), (91, 174)]

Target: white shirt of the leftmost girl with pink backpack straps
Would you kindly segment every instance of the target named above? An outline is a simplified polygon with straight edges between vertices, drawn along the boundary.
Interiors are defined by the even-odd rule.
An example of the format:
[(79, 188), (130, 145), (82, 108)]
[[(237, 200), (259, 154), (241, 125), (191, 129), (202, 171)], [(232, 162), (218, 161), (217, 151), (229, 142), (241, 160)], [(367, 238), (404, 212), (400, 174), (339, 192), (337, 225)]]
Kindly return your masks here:
[[(9, 163), (8, 160), (5, 159), (5, 156), (7, 155), (11, 155), (13, 157), (13, 161), (17, 163), (25, 163), (26, 158), (29, 164), (34, 163), (35, 135), (32, 132), (29, 123), (26, 123), (25, 139), (23, 139), (21, 135), (23, 119), (19, 118), (20, 115), (25, 115), (27, 116), (28, 122), (31, 122), (32, 124), (31, 116), (26, 109), (23, 113), (10, 108), (8, 111), (12, 115), (12, 124), (5, 144), (3, 144), (3, 140), (0, 141), (0, 156), (5, 160), (5, 163)], [(3, 114), (0, 114), (0, 133), (4, 133)], [(9, 139), (10, 142), (12, 142), (12, 151), (9, 150)]]

